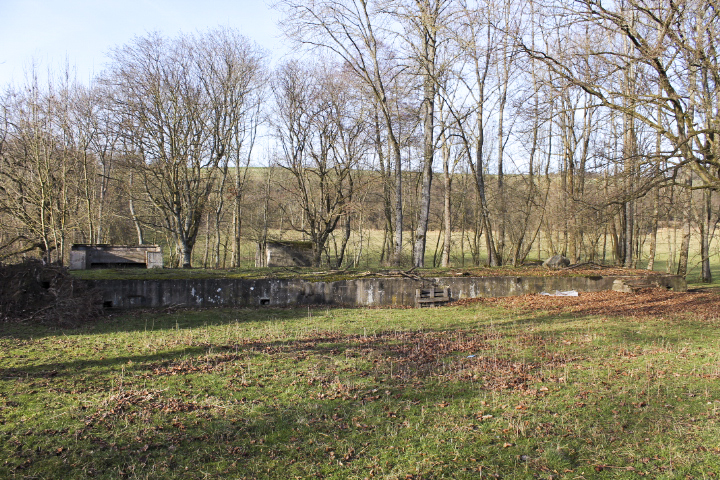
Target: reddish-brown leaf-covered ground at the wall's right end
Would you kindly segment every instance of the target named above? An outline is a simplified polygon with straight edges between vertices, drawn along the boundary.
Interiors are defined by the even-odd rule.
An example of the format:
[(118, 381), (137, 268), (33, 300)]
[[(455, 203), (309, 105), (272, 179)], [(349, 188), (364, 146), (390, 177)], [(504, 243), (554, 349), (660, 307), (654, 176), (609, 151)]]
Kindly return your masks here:
[(638, 293), (613, 291), (583, 293), (577, 297), (550, 297), (539, 294), (501, 298), (472, 298), (453, 305), (494, 304), (520, 311), (548, 311), (578, 315), (617, 317), (671, 317), (693, 315), (710, 320), (720, 318), (720, 293), (716, 289), (671, 292), (646, 289)]

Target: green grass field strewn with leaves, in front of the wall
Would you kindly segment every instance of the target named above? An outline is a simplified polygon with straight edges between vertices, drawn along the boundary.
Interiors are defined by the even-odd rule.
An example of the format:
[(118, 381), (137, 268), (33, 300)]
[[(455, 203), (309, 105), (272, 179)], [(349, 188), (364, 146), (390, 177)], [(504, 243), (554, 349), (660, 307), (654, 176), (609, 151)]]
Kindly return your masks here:
[(482, 305), (2, 324), (0, 478), (717, 478), (718, 326)]

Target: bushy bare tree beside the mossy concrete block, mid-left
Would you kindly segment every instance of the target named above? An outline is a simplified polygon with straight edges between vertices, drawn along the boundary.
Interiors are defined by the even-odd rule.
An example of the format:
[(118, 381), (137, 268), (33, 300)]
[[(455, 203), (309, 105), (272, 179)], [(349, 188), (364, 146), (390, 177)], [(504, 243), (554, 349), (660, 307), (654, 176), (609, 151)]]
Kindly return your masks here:
[(285, 64), (274, 85), (275, 131), (283, 148), (280, 165), (293, 179), (292, 185), (283, 188), (302, 211), (301, 222), (291, 216), (291, 225), (310, 237), (316, 266), (343, 218), (346, 235), (340, 255), (344, 255), (354, 170), (366, 148), (359, 102), (348, 87), (339, 70), (308, 69), (297, 62)]

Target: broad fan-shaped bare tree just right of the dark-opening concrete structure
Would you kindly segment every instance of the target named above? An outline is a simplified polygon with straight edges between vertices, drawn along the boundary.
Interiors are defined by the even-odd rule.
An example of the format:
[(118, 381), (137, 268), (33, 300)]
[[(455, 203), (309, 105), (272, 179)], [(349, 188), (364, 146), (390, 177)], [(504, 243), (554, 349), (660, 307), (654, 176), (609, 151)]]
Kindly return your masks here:
[(161, 227), (190, 267), (207, 199), (230, 161), (247, 99), (261, 81), (262, 53), (228, 29), (115, 49), (103, 77), (132, 166), (161, 213)]

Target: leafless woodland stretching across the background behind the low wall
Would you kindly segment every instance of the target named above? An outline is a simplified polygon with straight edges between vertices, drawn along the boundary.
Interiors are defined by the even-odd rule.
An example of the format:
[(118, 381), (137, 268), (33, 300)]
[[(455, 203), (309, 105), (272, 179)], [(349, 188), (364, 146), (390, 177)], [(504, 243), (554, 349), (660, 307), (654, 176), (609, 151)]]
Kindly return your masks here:
[(662, 256), (712, 280), (717, 0), (275, 8), (293, 58), (149, 33), (89, 83), (0, 86), (0, 262), (157, 243), (167, 266), (247, 267), (303, 239), (331, 268)]

